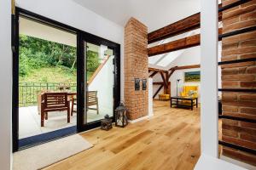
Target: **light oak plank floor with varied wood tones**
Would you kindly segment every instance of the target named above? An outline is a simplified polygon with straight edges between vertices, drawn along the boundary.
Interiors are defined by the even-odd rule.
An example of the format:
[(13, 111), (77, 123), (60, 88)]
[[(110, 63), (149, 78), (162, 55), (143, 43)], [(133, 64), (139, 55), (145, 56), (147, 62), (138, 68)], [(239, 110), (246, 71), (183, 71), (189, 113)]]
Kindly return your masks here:
[(154, 101), (149, 120), (81, 135), (95, 146), (45, 169), (189, 170), (200, 156), (200, 109), (171, 109), (169, 102)]

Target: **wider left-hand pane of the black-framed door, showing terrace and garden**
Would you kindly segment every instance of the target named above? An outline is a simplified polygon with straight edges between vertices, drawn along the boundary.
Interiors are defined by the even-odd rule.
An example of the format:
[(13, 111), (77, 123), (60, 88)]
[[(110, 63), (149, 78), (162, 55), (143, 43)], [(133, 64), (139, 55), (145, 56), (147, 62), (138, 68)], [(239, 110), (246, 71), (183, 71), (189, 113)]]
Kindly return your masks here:
[(19, 29), (20, 146), (57, 138), (59, 133), (55, 132), (68, 127), (75, 132), (76, 105), (69, 121), (67, 109), (57, 111), (59, 105), (52, 103), (44, 115), (42, 105), (49, 105), (43, 104), (44, 96), (49, 93), (55, 96), (67, 93), (69, 103), (76, 96), (77, 35), (23, 16), (19, 17)]

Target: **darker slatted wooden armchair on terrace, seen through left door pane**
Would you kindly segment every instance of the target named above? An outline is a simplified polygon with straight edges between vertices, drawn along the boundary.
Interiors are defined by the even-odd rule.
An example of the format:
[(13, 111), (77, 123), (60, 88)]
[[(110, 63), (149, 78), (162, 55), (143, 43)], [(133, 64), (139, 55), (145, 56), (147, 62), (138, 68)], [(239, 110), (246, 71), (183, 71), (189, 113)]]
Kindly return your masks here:
[(44, 93), (41, 102), (41, 127), (44, 127), (44, 119), (48, 120), (49, 111), (67, 111), (67, 122), (70, 122), (67, 93)]

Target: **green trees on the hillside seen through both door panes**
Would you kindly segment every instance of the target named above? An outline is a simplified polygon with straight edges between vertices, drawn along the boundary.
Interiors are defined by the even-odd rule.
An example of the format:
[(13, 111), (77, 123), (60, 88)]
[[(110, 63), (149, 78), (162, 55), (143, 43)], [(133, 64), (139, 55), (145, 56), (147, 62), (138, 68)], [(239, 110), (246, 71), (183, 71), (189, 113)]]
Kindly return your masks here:
[[(19, 56), (19, 74), (20, 77), (28, 77), (38, 69), (58, 67), (62, 71), (70, 72), (76, 77), (77, 71), (77, 51), (76, 48), (57, 42), (50, 42), (37, 37), (20, 35), (20, 56)], [(87, 51), (87, 75), (90, 77), (100, 65), (99, 54)], [(38, 71), (40, 73), (45, 72)], [(45, 75), (38, 75), (38, 81), (41, 82)], [(33, 77), (34, 74), (33, 74)], [(40, 78), (41, 77), (41, 78)], [(44, 78), (44, 82), (47, 79)]]

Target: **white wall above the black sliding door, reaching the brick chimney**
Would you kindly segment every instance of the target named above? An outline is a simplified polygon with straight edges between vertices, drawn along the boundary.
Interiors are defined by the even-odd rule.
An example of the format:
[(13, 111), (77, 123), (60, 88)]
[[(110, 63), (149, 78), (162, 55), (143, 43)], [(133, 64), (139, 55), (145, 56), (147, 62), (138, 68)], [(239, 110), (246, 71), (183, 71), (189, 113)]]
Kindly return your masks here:
[(124, 87), (124, 28), (103, 18), (101, 15), (82, 7), (72, 0), (16, 0), (20, 8), (57, 20), (99, 37), (106, 38), (121, 45), (121, 98)]

